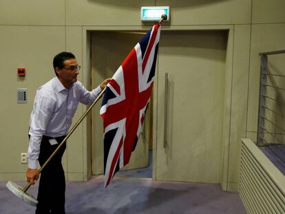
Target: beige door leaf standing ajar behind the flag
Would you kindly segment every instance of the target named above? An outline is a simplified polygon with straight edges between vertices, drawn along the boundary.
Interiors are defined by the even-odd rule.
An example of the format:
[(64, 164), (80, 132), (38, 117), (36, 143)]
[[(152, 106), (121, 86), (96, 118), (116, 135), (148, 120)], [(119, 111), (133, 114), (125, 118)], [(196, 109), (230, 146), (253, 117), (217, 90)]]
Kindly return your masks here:
[[(132, 48), (140, 41), (144, 33), (140, 32), (93, 32), (92, 33), (92, 87), (95, 88), (105, 78), (112, 77)], [(101, 103), (101, 102), (99, 102)], [(92, 110), (92, 174), (103, 173), (103, 120), (99, 115), (101, 105)], [(149, 109), (147, 110), (149, 111)], [(145, 125), (138, 139), (136, 149), (131, 154), (127, 166), (121, 170), (138, 169), (148, 165), (147, 123), (150, 114), (146, 114)]]

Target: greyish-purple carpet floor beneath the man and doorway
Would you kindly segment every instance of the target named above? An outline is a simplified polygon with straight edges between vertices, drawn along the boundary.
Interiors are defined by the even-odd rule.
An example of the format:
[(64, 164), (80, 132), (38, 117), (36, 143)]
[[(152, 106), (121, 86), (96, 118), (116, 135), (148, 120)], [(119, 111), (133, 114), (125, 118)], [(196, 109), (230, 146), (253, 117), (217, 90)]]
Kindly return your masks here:
[[(17, 184), (25, 186), (25, 182)], [(28, 192), (36, 196), (37, 184)], [(219, 184), (114, 178), (105, 189), (103, 176), (67, 182), (65, 208), (67, 214), (246, 213), (240, 196), (222, 191)], [(34, 206), (25, 204), (6, 188), (6, 182), (0, 182), (0, 213), (30, 214)]]

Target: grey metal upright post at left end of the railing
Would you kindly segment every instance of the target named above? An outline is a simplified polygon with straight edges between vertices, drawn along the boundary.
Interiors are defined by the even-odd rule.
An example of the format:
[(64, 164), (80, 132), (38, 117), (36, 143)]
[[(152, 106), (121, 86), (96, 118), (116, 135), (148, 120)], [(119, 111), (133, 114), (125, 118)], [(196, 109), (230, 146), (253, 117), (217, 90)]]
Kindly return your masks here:
[(267, 83), (267, 56), (261, 56), (260, 65), (260, 103), (258, 107), (258, 123), (257, 123), (257, 146), (264, 145), (264, 117), (266, 104), (266, 83)]

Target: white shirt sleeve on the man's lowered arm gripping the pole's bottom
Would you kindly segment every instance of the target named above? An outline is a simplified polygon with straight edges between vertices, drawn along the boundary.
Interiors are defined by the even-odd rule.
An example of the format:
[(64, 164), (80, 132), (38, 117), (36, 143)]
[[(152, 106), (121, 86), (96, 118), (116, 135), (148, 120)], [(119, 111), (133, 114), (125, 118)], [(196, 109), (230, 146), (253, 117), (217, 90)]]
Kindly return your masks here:
[(28, 147), (28, 167), (38, 168), (41, 140), (54, 109), (54, 100), (48, 96), (37, 95), (30, 118), (30, 142)]

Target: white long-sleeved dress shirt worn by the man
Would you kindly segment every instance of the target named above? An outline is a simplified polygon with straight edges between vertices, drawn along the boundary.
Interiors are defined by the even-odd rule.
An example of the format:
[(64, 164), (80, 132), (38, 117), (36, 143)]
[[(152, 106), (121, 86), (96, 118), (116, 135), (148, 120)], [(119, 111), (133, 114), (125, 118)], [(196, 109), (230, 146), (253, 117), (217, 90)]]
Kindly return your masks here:
[(67, 135), (78, 103), (90, 105), (100, 92), (99, 86), (92, 92), (88, 92), (79, 81), (66, 89), (57, 77), (37, 89), (34, 109), (30, 116), (28, 147), (30, 169), (38, 167), (37, 160), (43, 136), (56, 138)]

